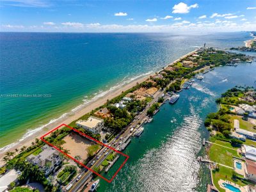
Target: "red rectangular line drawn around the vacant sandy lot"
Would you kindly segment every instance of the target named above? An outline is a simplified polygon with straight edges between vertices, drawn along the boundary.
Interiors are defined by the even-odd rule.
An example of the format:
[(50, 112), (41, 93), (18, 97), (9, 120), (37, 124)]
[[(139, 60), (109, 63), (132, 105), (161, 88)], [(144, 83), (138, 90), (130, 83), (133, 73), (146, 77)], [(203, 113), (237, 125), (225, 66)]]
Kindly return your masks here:
[[(86, 138), (89, 138), (90, 140), (93, 140), (93, 141), (99, 143), (100, 145), (103, 145), (104, 147), (108, 147), (108, 148), (110, 148), (111, 150), (114, 150), (115, 152), (117, 152), (118, 154), (121, 154), (122, 156), (126, 157), (124, 163), (121, 164), (121, 166), (118, 168), (118, 170), (115, 172), (115, 174), (113, 175), (113, 177), (111, 177), (110, 180), (106, 179), (105, 177), (103, 177), (103, 176), (100, 175), (99, 173), (95, 172), (94, 170), (92, 170), (92, 169), (89, 168), (88, 166), (84, 165), (83, 163), (80, 163), (80, 162), (77, 161), (74, 157), (69, 156), (68, 154), (66, 154), (65, 152), (63, 152), (62, 150), (60, 150), (60, 148), (56, 147), (55, 145), (52, 145), (51, 143), (49, 143), (48, 141), (46, 141), (46, 140), (44, 139), (45, 136), (47, 136), (48, 134), (50, 134), (50, 133), (53, 132), (53, 131), (56, 131), (57, 129), (59, 129), (59, 128), (62, 127), (62, 126), (68, 127), (69, 129), (72, 129), (73, 131), (75, 131), (75, 132), (77, 132), (77, 133), (79, 133), (79, 134), (85, 136)], [(70, 159), (72, 159), (73, 161), (76, 161), (76, 163), (81, 164), (81, 166), (84, 166), (84, 168), (90, 170), (91, 172), (95, 173), (96, 175), (98, 175), (99, 177), (101, 177), (102, 179), (106, 180), (106, 181), (109, 182), (109, 183), (112, 182), (112, 180), (116, 177), (117, 173), (120, 172), (121, 168), (124, 166), (124, 164), (125, 164), (125, 163), (127, 162), (127, 160), (129, 159), (129, 156), (127, 156), (126, 154), (123, 154), (122, 152), (116, 150), (115, 148), (112, 148), (112, 147), (110, 147), (110, 146), (108, 146), (108, 145), (106, 145), (106, 144), (104, 144), (104, 143), (102, 143), (102, 142), (100, 142), (100, 141), (98, 141), (98, 140), (95, 140), (94, 138), (88, 136), (87, 134), (84, 134), (83, 132), (80, 132), (80, 131), (78, 131), (77, 129), (74, 129), (73, 127), (70, 127), (70, 126), (68, 126), (68, 125), (66, 125), (66, 124), (61, 124), (61, 125), (59, 125), (58, 127), (56, 127), (56, 128), (54, 128), (54, 129), (52, 129), (51, 131), (47, 132), (47, 133), (44, 134), (42, 137), (40, 137), (40, 140), (44, 141), (47, 145), (50, 145), (51, 147), (55, 148), (56, 150), (58, 150), (59, 152), (61, 152), (61, 153), (64, 154), (65, 156), (70, 157)]]

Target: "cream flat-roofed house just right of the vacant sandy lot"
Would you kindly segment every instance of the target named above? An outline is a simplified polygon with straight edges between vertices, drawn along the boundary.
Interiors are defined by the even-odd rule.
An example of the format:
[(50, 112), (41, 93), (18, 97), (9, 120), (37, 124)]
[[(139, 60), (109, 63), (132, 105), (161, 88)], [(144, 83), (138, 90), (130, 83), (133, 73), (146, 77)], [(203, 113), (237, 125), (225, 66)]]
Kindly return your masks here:
[(104, 127), (104, 120), (95, 116), (90, 116), (88, 120), (78, 120), (76, 125), (92, 132), (93, 134), (100, 134)]

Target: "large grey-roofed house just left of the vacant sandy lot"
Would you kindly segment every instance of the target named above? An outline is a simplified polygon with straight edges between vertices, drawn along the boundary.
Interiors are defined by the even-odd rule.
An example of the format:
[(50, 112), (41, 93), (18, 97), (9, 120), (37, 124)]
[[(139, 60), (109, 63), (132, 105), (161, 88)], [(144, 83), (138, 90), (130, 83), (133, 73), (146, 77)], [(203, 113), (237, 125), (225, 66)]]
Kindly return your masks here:
[(37, 165), (40, 170), (44, 171), (45, 175), (49, 175), (61, 163), (59, 152), (48, 145), (42, 147), (40, 154), (37, 156), (31, 154), (27, 159), (30, 163)]

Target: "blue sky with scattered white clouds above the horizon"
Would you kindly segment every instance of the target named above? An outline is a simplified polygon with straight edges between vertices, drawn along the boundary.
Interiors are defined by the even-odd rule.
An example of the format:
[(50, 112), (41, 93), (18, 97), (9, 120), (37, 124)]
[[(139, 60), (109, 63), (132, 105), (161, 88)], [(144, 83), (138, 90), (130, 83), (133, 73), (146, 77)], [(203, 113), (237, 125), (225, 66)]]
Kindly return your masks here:
[(0, 31), (256, 30), (255, 0), (0, 0)]

